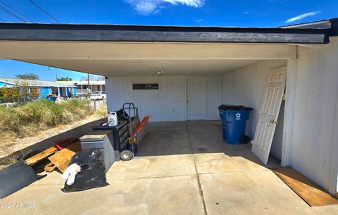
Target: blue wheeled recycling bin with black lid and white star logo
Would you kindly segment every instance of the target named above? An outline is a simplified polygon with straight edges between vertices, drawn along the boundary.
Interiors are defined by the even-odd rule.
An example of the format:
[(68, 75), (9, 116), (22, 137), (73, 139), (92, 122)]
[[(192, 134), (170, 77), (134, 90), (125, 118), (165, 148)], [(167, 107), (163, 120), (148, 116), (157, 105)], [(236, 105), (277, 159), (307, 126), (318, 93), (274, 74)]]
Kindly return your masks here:
[(242, 105), (222, 104), (218, 110), (223, 123), (223, 140), (229, 144), (249, 142), (249, 137), (245, 135), (245, 126), (253, 109)]

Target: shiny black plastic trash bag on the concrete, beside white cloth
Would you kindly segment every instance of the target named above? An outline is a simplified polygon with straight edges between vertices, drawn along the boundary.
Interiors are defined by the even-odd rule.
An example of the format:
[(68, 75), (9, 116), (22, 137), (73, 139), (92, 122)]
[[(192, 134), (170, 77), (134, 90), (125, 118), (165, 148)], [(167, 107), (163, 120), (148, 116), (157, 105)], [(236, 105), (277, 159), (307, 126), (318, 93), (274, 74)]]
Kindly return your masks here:
[(65, 183), (63, 192), (88, 190), (109, 185), (106, 180), (104, 158), (99, 149), (82, 149), (74, 154), (68, 166), (72, 164), (81, 166), (81, 171), (75, 176), (73, 185)]

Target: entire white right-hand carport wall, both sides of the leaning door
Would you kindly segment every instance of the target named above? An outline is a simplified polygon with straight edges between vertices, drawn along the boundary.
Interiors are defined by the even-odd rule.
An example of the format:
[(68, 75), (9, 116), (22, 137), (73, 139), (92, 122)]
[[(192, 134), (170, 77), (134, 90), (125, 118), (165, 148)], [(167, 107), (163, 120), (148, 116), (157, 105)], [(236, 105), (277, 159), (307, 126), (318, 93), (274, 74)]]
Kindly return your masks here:
[[(223, 101), (251, 106), (247, 133), (253, 138), (270, 68), (286, 61), (262, 61), (223, 75)], [(332, 195), (338, 175), (338, 42), (318, 49), (299, 47), (296, 60), (291, 166)], [(232, 81), (233, 80), (233, 81)], [(283, 123), (277, 126), (282, 126)], [(271, 152), (280, 156), (282, 129), (276, 128)], [(275, 148), (274, 148), (275, 147)]]

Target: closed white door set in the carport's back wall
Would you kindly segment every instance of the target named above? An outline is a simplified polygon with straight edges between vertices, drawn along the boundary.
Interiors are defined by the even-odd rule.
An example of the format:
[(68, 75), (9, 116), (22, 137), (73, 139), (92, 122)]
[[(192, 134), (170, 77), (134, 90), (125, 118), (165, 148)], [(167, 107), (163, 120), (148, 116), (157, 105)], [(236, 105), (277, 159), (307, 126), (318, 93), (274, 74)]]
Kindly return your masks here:
[(206, 79), (187, 79), (187, 120), (206, 119)]

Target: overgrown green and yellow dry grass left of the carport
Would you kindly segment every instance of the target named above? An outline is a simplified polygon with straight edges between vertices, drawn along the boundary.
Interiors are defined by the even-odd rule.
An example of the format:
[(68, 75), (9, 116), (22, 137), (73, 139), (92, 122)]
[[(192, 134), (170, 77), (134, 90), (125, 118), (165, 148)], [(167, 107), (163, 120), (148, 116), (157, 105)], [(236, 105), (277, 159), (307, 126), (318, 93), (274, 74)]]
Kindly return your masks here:
[(41, 99), (18, 107), (0, 106), (0, 136), (1, 139), (33, 136), (40, 130), (80, 121), (92, 113), (87, 102), (77, 99), (61, 103)]

